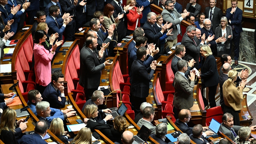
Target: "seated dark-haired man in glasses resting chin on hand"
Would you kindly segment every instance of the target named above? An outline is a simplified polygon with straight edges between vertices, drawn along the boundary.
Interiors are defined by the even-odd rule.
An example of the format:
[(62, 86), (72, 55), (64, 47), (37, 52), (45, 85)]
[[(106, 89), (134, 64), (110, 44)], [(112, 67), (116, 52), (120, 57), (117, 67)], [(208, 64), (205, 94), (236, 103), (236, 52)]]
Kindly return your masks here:
[(50, 103), (51, 108), (64, 108), (66, 97), (64, 95), (64, 75), (59, 72), (52, 74), (50, 82), (42, 94), (43, 101)]

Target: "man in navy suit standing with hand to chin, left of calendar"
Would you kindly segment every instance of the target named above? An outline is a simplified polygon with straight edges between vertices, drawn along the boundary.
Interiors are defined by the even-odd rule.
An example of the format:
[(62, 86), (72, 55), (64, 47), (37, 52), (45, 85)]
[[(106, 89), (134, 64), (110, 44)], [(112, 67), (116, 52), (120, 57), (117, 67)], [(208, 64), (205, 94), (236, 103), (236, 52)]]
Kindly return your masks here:
[(233, 47), (232, 41), (235, 45), (235, 65), (238, 65), (239, 58), (239, 42), (240, 42), (240, 33), (242, 29), (242, 15), (243, 11), (237, 7), (237, 0), (231, 0), (231, 8), (227, 9), (226, 17), (228, 19), (228, 24), (232, 28), (233, 39), (230, 41), (229, 55), (231, 54), (231, 49)]

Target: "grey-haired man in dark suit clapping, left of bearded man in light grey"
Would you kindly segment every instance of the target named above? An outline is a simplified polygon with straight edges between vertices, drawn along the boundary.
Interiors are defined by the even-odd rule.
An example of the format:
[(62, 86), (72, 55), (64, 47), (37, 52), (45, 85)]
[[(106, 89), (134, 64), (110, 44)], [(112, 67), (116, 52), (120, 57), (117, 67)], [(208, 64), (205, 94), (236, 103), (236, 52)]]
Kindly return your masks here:
[[(166, 33), (166, 30), (172, 26), (172, 24), (164, 24), (162, 26), (162, 29), (160, 29), (156, 23), (156, 13), (154, 12), (149, 12), (147, 15), (147, 21), (143, 25), (143, 29), (145, 32), (145, 36), (148, 38), (148, 41), (151, 43), (156, 44), (156, 48), (161, 48), (160, 45), (160, 37), (163, 36), (163, 33)], [(170, 31), (168, 31), (170, 32)], [(158, 56), (154, 57), (155, 60), (158, 58)]]

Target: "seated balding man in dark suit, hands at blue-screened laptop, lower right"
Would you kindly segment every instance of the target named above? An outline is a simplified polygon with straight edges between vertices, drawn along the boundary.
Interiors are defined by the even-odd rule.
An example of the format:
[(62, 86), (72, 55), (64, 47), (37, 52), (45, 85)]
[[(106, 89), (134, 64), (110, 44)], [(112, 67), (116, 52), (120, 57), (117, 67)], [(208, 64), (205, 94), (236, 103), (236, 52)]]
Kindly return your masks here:
[[(187, 109), (183, 109), (179, 112), (179, 119), (175, 121), (175, 125), (184, 133), (187, 135), (192, 134), (192, 127), (188, 127), (188, 122), (191, 119), (191, 112)], [(208, 127), (203, 127), (203, 129), (208, 129)], [(207, 135), (212, 135), (213, 132), (207, 130), (202, 134), (201, 138), (206, 137)]]

